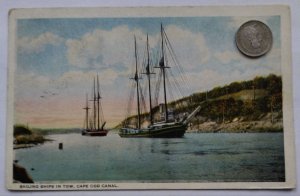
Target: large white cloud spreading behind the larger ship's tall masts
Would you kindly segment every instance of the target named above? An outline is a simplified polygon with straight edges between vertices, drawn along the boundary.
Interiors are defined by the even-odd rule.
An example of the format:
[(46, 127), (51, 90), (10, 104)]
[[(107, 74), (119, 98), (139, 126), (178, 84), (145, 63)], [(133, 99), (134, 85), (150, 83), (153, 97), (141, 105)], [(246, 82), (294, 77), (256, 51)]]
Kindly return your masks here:
[[(195, 68), (199, 63), (209, 60), (210, 53), (201, 33), (192, 33), (174, 25), (167, 26), (165, 31), (179, 61), (187, 68)], [(96, 29), (80, 39), (67, 40), (68, 62), (79, 68), (107, 68), (118, 64), (129, 68), (134, 63), (133, 35), (137, 37), (141, 59), (146, 34), (140, 29), (129, 29), (123, 25), (110, 31)], [(150, 47), (157, 47), (159, 38), (160, 33), (149, 36)]]

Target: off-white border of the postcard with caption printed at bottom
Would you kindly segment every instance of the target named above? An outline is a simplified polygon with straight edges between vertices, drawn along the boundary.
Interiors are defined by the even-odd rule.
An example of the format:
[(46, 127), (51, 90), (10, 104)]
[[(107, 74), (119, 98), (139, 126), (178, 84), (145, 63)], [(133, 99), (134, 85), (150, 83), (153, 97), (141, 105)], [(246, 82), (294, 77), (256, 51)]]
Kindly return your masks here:
[[(235, 11), (232, 12), (232, 9)], [(284, 113), (284, 151), (286, 182), (189, 182), (189, 183), (113, 183), (117, 187), (101, 187), (104, 182), (87, 183), (99, 184), (97, 188), (77, 188), (77, 185), (86, 183), (68, 183), (74, 188), (20, 188), (20, 184), (12, 183), (12, 130), (13, 130), (13, 74), (15, 69), (15, 38), (16, 20), (20, 18), (73, 18), (73, 17), (149, 17), (149, 16), (281, 16), (281, 47), (282, 47), (282, 81), (283, 81), (283, 113)], [(11, 190), (107, 190), (107, 189), (285, 189), (294, 188), (295, 173), (295, 147), (293, 128), (293, 94), (292, 94), (292, 68), (291, 68), (291, 27), (290, 10), (288, 6), (201, 6), (201, 7), (140, 7), (140, 8), (53, 8), (53, 9), (15, 9), (9, 16), (9, 70), (7, 100), (7, 174), (6, 185)], [(10, 142), (11, 141), (11, 142)], [(53, 182), (53, 185), (62, 184)], [(24, 185), (24, 184), (23, 184)], [(105, 186), (105, 185), (103, 185)]]

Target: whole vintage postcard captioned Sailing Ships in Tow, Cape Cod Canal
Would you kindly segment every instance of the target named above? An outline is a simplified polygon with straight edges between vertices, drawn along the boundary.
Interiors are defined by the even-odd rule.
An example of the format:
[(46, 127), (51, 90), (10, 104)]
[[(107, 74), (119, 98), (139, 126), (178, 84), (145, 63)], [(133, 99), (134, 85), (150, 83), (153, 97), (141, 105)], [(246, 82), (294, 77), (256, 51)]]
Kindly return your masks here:
[(287, 6), (14, 9), (10, 190), (295, 187)]

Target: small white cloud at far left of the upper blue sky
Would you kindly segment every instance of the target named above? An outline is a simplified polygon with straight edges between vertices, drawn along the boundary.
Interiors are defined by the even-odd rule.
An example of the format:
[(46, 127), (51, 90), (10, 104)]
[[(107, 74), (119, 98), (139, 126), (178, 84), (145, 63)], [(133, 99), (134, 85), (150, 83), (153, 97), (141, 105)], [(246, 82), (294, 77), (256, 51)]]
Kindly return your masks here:
[(18, 49), (22, 53), (39, 53), (45, 50), (47, 45), (57, 46), (63, 43), (63, 38), (46, 32), (38, 37), (22, 37), (18, 40)]

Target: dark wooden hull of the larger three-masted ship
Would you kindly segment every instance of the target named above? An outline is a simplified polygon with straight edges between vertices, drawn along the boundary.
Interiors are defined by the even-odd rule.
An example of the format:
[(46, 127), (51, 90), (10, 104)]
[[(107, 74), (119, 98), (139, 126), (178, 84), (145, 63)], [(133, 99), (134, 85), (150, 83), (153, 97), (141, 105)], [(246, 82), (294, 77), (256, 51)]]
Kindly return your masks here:
[(119, 132), (120, 137), (148, 137), (148, 138), (181, 138), (187, 130), (187, 125), (175, 124), (148, 129), (122, 128)]

